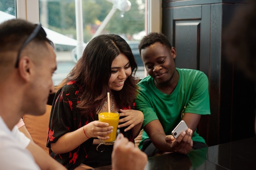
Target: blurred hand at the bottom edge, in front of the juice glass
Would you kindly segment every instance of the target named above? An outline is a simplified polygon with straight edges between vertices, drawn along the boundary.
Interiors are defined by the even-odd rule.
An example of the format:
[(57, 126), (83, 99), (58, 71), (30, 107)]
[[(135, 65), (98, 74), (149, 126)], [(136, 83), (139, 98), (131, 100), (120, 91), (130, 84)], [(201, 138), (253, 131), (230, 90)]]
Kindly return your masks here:
[(129, 142), (123, 134), (117, 137), (112, 151), (112, 169), (144, 170), (148, 161), (147, 155)]

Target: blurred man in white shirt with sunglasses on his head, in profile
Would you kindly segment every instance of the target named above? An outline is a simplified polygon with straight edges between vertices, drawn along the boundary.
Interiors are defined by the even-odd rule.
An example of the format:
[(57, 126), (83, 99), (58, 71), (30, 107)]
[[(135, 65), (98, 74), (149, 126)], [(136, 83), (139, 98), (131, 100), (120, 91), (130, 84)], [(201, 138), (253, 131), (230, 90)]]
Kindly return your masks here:
[[(3, 169), (65, 169), (15, 126), (27, 113), (42, 115), (54, 91), (56, 55), (40, 25), (0, 25), (0, 164)], [(29, 152), (29, 151), (30, 152)]]

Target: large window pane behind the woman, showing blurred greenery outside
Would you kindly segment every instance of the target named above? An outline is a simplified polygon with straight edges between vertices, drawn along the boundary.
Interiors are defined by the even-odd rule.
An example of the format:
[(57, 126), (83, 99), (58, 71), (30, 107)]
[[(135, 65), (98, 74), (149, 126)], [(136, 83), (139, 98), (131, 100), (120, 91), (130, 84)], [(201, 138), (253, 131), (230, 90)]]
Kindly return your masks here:
[[(126, 0), (119, 0), (127, 2)], [(83, 48), (95, 36), (101, 33), (115, 33), (123, 37), (132, 48), (139, 69), (137, 76), (144, 77), (144, 65), (139, 56), (138, 44), (145, 35), (145, 0), (129, 0), (128, 11), (114, 10), (112, 0), (40, 0), (40, 23), (48, 28), (49, 39), (56, 46), (57, 70), (53, 76), (57, 85), (67, 76), (76, 63), (77, 39), (76, 2), (81, 2)], [(122, 6), (123, 7), (123, 6)], [(121, 7), (120, 7), (121, 8)], [(108, 16), (108, 17), (107, 17)], [(98, 31), (99, 31), (98, 30)], [(51, 32), (50, 32), (51, 31)], [(51, 34), (50, 34), (51, 33)], [(81, 39), (81, 37), (80, 37)]]

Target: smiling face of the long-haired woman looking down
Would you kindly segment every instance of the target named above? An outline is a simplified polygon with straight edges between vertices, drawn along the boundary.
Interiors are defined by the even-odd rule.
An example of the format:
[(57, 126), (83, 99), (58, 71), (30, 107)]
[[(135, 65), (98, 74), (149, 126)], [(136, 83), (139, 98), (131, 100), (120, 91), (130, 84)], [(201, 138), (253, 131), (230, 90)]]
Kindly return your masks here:
[(112, 62), (111, 76), (108, 80), (108, 87), (119, 91), (124, 87), (126, 78), (132, 74), (132, 68), (128, 58), (124, 54), (119, 54)]

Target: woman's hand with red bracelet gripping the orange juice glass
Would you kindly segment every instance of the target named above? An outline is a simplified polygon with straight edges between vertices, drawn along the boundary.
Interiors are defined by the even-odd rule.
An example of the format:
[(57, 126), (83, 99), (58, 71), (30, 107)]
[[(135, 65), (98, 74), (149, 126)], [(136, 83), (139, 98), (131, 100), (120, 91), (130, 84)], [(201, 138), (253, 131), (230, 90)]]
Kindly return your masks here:
[(106, 140), (109, 137), (105, 137), (105, 135), (108, 135), (113, 131), (113, 126), (108, 126), (108, 123), (99, 122), (95, 120), (93, 122), (88, 123), (83, 128), (87, 137), (98, 137), (99, 139)]

